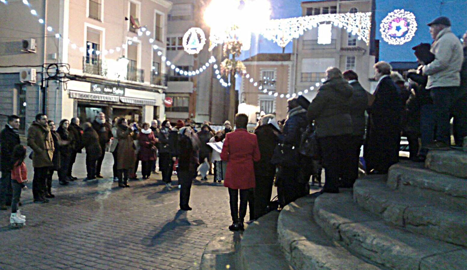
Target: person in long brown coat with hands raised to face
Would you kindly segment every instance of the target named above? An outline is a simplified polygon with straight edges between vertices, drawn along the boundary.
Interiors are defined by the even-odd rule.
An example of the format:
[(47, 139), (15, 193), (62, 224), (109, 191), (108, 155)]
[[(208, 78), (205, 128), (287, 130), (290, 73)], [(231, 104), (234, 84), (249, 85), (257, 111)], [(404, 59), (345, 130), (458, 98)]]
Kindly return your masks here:
[(117, 121), (117, 170), (118, 186), (129, 187), (128, 173), (133, 173), (136, 163), (136, 154), (133, 140), (136, 138), (134, 126), (128, 126), (127, 119), (120, 118)]

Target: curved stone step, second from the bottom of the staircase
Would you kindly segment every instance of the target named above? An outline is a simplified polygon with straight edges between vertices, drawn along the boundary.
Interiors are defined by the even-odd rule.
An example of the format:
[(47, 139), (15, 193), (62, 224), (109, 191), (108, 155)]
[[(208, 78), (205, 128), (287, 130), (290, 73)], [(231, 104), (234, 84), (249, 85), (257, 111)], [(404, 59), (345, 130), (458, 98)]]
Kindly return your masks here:
[(314, 200), (310, 195), (290, 203), (277, 221), (279, 243), (294, 269), (380, 269), (325, 235), (313, 220)]

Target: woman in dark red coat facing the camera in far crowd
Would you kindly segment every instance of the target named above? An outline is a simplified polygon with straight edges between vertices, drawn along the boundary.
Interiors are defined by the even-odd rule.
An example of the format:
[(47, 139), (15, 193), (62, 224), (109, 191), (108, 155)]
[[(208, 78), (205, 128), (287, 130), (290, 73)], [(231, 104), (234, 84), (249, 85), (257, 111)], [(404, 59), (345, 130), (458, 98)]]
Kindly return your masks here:
[(138, 152), (138, 159), (141, 160), (143, 179), (149, 179), (151, 175), (151, 164), (157, 159), (156, 144), (159, 141), (154, 132), (150, 129), (148, 123), (143, 124), (141, 132), (138, 134), (138, 141), (140, 143), (140, 151)]

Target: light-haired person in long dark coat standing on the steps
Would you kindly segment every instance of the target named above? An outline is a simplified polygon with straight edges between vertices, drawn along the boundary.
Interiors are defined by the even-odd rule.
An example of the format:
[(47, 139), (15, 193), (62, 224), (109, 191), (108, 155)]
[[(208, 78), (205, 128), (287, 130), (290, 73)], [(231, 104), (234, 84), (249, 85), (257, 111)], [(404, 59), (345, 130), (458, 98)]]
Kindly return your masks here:
[(385, 174), (389, 167), (399, 162), (401, 141), (402, 98), (397, 93), (396, 84), (389, 77), (391, 65), (387, 62), (375, 64), (375, 78), (378, 79), (369, 107), (368, 136), (364, 149), (367, 173)]

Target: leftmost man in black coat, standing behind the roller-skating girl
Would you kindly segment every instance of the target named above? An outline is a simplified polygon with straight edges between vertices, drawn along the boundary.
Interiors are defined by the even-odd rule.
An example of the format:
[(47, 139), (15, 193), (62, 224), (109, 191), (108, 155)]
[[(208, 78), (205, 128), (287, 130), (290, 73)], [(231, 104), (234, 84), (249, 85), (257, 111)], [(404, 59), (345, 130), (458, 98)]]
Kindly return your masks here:
[(10, 115), (8, 116), (8, 124), (0, 132), (0, 210), (7, 210), (7, 205), (11, 205), (12, 154), (14, 146), (20, 144), (19, 127), (20, 118), (16, 115)]

